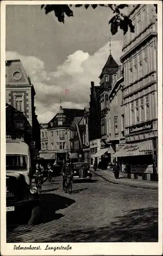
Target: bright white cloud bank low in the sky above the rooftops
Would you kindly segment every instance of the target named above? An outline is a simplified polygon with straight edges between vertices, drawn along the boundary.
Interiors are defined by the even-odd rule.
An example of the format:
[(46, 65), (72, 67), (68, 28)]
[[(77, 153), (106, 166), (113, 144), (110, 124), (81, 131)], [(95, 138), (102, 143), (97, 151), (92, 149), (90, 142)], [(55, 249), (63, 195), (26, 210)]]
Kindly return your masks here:
[[(111, 53), (120, 65), (122, 41), (114, 41)], [(39, 122), (48, 122), (59, 110), (60, 98), (63, 108), (79, 108), (89, 105), (90, 81), (99, 85), (99, 75), (109, 55), (108, 44), (94, 55), (78, 50), (67, 56), (54, 72), (46, 72), (42, 60), (34, 56), (23, 56), (17, 52), (6, 52), (7, 59), (20, 59), (31, 77), (36, 96), (35, 106)]]

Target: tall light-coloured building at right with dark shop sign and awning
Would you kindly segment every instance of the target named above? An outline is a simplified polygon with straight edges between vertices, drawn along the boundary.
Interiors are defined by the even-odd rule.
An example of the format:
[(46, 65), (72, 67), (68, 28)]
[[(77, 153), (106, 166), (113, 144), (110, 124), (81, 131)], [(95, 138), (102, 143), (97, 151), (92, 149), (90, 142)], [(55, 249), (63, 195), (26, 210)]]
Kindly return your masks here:
[(157, 177), (157, 16), (153, 5), (134, 5), (128, 17), (135, 32), (124, 36), (125, 141), (115, 153), (131, 176)]

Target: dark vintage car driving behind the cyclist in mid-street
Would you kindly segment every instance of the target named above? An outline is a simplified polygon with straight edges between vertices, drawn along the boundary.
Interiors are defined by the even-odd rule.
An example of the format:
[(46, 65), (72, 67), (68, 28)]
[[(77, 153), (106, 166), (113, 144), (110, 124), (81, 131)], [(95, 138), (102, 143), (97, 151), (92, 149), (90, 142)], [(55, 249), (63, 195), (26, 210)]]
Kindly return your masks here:
[(86, 162), (72, 163), (73, 181), (91, 180), (92, 174)]

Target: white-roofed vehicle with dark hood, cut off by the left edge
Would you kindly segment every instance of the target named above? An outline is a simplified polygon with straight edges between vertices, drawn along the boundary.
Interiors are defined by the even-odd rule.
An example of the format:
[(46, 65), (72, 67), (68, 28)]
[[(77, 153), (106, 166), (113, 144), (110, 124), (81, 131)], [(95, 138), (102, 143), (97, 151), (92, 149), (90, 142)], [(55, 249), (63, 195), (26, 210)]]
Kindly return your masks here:
[[(31, 186), (29, 146), (25, 142), (6, 140), (6, 211), (7, 217), (21, 212), (28, 224), (35, 224), (39, 215), (38, 193)], [(25, 215), (24, 215), (25, 214)]]

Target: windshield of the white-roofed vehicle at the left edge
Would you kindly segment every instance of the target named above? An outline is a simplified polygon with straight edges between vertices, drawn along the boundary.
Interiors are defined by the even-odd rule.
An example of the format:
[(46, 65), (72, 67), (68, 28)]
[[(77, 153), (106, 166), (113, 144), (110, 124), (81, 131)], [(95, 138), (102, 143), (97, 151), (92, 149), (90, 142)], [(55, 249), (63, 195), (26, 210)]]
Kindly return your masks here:
[(27, 156), (6, 155), (6, 170), (27, 170)]

